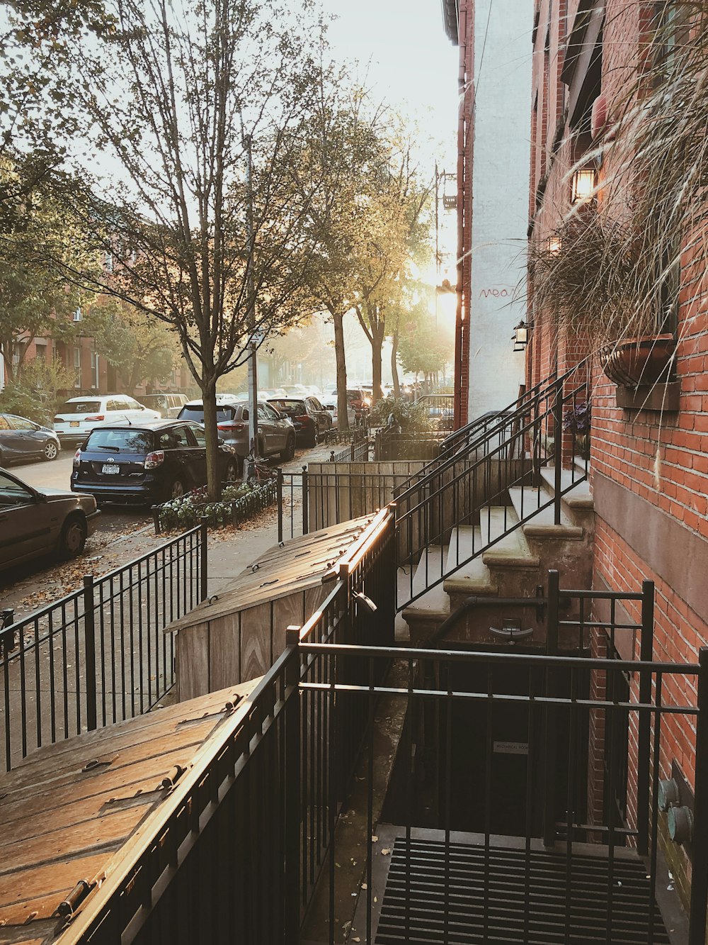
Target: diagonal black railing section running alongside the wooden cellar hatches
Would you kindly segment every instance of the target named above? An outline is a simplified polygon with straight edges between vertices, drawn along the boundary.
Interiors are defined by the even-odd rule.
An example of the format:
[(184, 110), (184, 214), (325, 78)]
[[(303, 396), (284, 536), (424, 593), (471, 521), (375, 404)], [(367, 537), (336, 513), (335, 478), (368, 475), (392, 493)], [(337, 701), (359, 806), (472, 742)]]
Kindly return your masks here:
[[(135, 837), (73, 918), (75, 941), (119, 942), (129, 927), (144, 943), (297, 942), (368, 726), (359, 700), (338, 696), (332, 711), (326, 698), (299, 697), (301, 678), (327, 685), (329, 668), (301, 662), (298, 644), (393, 644), (393, 541), (384, 509), (340, 561), (321, 610), (289, 628), (286, 651), (162, 801), (159, 841)], [(364, 684), (362, 665), (340, 663), (338, 678)]]

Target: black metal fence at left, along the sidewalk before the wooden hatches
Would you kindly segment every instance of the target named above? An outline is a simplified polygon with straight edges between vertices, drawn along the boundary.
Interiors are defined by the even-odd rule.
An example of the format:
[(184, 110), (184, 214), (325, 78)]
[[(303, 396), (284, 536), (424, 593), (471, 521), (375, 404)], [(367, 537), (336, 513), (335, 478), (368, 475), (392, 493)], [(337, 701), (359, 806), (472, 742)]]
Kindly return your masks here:
[(207, 528), (173, 541), (0, 631), (0, 756), (143, 713), (175, 684), (164, 627), (207, 593)]

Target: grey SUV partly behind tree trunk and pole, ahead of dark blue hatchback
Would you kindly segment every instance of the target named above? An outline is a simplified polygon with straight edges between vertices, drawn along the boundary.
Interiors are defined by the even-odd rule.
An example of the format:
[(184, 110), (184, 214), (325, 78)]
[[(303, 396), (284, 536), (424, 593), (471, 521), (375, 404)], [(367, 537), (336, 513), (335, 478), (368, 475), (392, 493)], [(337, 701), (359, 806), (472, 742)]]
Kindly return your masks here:
[[(179, 411), (179, 420), (196, 421), (204, 425), (204, 402), (190, 401)], [(232, 446), (238, 455), (239, 469), (243, 468), (244, 458), (250, 453), (248, 435), (248, 404), (243, 402), (216, 400), (216, 426), (219, 436), (228, 446)], [(259, 452), (261, 456), (279, 453), (283, 460), (295, 455), (295, 430), (293, 424), (281, 417), (265, 401), (258, 405)]]

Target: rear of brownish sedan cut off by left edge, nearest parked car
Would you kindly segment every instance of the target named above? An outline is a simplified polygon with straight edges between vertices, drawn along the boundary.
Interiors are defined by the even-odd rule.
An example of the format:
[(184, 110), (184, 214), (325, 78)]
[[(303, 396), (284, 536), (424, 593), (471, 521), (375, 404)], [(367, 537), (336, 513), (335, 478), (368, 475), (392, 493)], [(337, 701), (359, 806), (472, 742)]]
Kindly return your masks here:
[(99, 515), (91, 495), (33, 489), (0, 470), (0, 569), (51, 552), (75, 558)]

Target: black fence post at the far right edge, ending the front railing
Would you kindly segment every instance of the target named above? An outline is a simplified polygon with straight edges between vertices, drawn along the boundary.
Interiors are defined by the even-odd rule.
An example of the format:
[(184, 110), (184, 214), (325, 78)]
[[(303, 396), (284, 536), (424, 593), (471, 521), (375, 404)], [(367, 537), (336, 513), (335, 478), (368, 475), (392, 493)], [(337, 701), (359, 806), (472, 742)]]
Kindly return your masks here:
[(699, 653), (699, 692), (696, 719), (696, 781), (694, 783), (693, 868), (688, 919), (688, 945), (705, 945), (708, 906), (708, 647)]

